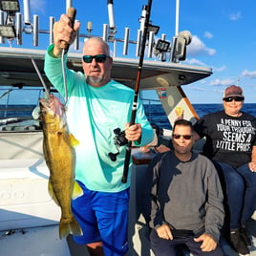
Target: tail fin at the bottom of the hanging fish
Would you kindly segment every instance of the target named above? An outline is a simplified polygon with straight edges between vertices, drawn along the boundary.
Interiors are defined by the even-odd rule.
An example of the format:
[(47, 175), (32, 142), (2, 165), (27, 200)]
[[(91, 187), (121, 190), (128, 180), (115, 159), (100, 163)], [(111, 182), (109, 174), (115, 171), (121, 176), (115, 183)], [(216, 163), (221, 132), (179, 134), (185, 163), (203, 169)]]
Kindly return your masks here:
[(72, 219), (67, 222), (66, 220), (61, 219), (59, 222), (59, 238), (66, 238), (69, 234), (75, 235), (75, 236), (82, 236), (83, 231), (80, 227), (80, 225), (75, 220), (75, 217), (73, 216)]

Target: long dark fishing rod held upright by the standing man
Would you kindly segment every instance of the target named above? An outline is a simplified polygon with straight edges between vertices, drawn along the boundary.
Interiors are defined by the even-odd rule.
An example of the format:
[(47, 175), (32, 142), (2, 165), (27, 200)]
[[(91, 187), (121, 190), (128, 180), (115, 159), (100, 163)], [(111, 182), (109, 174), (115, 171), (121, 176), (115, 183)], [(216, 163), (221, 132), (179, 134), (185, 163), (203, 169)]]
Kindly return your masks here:
[[(145, 6), (145, 9), (146, 9), (145, 24), (144, 24), (144, 28), (143, 28), (142, 42), (141, 42), (141, 48), (140, 48), (140, 53), (139, 53), (139, 66), (138, 66), (138, 73), (137, 73), (137, 78), (136, 78), (135, 95), (134, 95), (134, 102), (133, 102), (133, 108), (132, 108), (132, 115), (131, 115), (131, 119), (130, 119), (130, 126), (135, 124), (135, 119), (136, 119), (136, 114), (137, 114), (137, 109), (138, 109), (140, 75), (141, 75), (143, 60), (144, 60), (144, 52), (145, 52), (146, 39), (147, 39), (147, 33), (148, 33), (148, 27), (149, 27), (151, 6), (152, 6), (152, 0), (148, 0), (148, 4), (147, 4), (147, 6)], [(132, 152), (131, 146), (132, 146), (132, 141), (128, 141), (128, 144), (126, 147), (126, 153), (125, 153), (122, 180), (121, 180), (123, 183), (127, 182), (127, 176), (128, 176), (131, 152)]]

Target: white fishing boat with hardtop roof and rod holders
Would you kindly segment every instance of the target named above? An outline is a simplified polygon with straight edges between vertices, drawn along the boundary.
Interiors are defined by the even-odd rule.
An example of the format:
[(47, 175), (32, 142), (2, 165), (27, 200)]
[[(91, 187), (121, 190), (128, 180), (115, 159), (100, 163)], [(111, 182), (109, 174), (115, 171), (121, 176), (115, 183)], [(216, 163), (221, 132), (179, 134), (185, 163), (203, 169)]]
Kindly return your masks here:
[[(112, 1), (109, 2), (111, 4)], [(29, 8), (29, 1), (24, 0), (23, 5), (24, 8)], [(66, 6), (72, 6), (70, 1), (67, 1)], [(140, 17), (142, 20), (144, 11), (143, 6)], [(0, 36), (0, 254), (88, 255), (85, 246), (75, 245), (70, 236), (67, 240), (58, 238), (60, 209), (48, 194), (49, 170), (42, 153), (42, 129), (36, 118), (38, 98), (45, 92), (36, 68), (47, 88), (58, 96), (43, 71), (45, 50), (37, 49), (39, 33), (49, 34), (50, 42), (53, 42), (53, 17), (50, 17), (49, 31), (41, 31), (38, 29), (37, 15), (34, 15), (33, 22), (28, 25), (26, 20), (30, 18), (26, 19), (24, 15), (23, 20), (18, 11), (15, 17), (12, 17), (12, 24), (5, 24), (6, 12), (0, 11), (0, 27), (11, 27), (15, 21), (17, 26), (14, 37), (7, 38), (17, 40), (19, 47), (6, 46), (6, 36)], [(124, 38), (116, 38), (114, 31), (113, 26), (103, 24), (101, 36), (109, 42), (113, 51), (112, 77), (134, 88), (139, 66), (139, 51), (141, 51), (141, 28), (137, 40), (129, 38), (128, 29), (125, 30)], [(25, 32), (31, 32), (33, 36), (34, 46), (30, 49), (22, 48), (22, 35)], [(79, 50), (77, 44), (79, 38), (85, 39), (91, 36), (90, 28), (88, 33), (78, 33), (75, 50)], [(161, 35), (160, 43), (167, 44), (167, 51), (164, 52), (162, 49), (156, 49), (158, 44), (155, 42), (154, 31), (149, 33), (147, 57), (143, 61), (140, 76), (140, 91), (156, 90), (160, 98), (160, 106), (164, 109), (171, 126), (179, 110), (184, 111), (184, 118), (192, 122), (199, 118), (181, 87), (212, 74), (212, 70), (208, 67), (185, 65), (181, 62), (185, 59), (185, 48), (191, 41), (189, 32), (179, 32), (172, 38), (172, 41), (168, 42), (166, 35)], [(117, 56), (117, 42), (122, 45), (121, 56)], [(127, 53), (128, 45), (136, 48), (135, 56), (131, 57), (131, 54)], [(154, 55), (156, 51), (157, 56)], [(33, 62), (36, 63), (35, 66)], [(77, 51), (68, 53), (68, 66), (75, 71), (82, 71), (80, 53)], [(33, 98), (33, 102), (25, 104), (28, 96), (30, 99)], [(20, 102), (19, 105), (17, 101)], [(29, 115), (25, 115), (26, 112)], [(168, 141), (170, 135), (171, 131), (165, 131), (161, 139)], [(156, 137), (149, 146), (157, 145), (158, 139), (160, 138)], [(199, 150), (201, 143), (203, 142), (198, 144)], [(139, 148), (133, 148), (129, 255), (153, 255), (148, 240), (149, 229), (139, 211), (142, 193), (139, 184), (153, 157), (154, 153), (142, 153)], [(254, 221), (249, 224), (249, 230), (256, 245)], [(256, 255), (254, 245), (251, 246), (252, 255)], [(228, 245), (224, 245), (224, 249), (227, 255), (236, 255)]]

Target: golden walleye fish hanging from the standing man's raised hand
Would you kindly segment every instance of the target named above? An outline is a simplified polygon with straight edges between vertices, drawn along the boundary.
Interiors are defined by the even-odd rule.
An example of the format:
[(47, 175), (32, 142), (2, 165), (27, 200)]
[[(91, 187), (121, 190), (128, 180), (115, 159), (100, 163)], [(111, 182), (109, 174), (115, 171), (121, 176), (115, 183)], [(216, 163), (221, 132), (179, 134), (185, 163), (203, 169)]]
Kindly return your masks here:
[(43, 152), (50, 170), (49, 193), (61, 208), (59, 238), (69, 234), (82, 235), (71, 209), (72, 198), (82, 194), (82, 189), (74, 180), (75, 149), (78, 141), (67, 128), (65, 107), (59, 99), (50, 95), (49, 99), (40, 98), (43, 122)]

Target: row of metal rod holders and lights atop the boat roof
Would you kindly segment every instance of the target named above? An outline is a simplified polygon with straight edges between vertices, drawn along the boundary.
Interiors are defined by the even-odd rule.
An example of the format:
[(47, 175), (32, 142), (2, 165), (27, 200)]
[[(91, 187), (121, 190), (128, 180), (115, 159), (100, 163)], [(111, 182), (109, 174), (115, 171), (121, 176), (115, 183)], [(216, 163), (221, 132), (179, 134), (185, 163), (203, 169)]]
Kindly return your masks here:
[[(117, 53), (121, 52), (122, 56), (132, 55), (129, 53), (129, 48), (134, 46), (135, 48), (135, 56), (139, 57), (139, 53), (141, 51), (141, 41), (143, 36), (144, 29), (144, 21), (145, 21), (145, 10), (142, 7), (141, 16), (139, 18), (140, 28), (137, 31), (137, 39), (133, 40), (130, 38), (131, 29), (126, 27), (124, 28), (123, 38), (117, 37), (117, 30), (113, 30), (110, 25), (103, 24), (102, 34), (96, 35), (100, 36), (104, 41), (108, 42), (111, 46), (111, 50), (113, 56), (116, 57)], [(24, 8), (25, 9), (25, 8)], [(24, 11), (25, 12), (25, 11)], [(8, 26), (5, 22), (5, 16), (7, 13), (5, 11), (0, 11), (0, 25)], [(39, 46), (39, 34), (48, 34), (49, 35), (49, 44), (53, 44), (53, 24), (55, 22), (55, 18), (53, 16), (49, 17), (49, 30), (41, 30), (39, 29), (39, 16), (34, 14), (32, 18), (32, 22), (30, 21), (30, 17), (25, 18), (23, 20), (23, 15), (20, 12), (16, 12), (13, 18), (13, 24), (15, 25), (13, 37), (9, 35), (8, 37), (0, 36), (0, 44), (5, 44), (6, 40), (11, 43), (13, 40), (16, 40), (18, 46), (23, 45), (23, 34), (32, 34), (32, 46)], [(12, 25), (13, 25), (12, 24)], [(82, 26), (81, 26), (82, 27)], [(180, 32), (176, 36), (173, 36), (170, 40), (166, 39), (166, 33), (161, 33), (160, 36), (156, 36), (158, 34), (160, 27), (149, 24), (148, 26), (148, 34), (147, 34), (147, 54), (145, 57), (154, 58), (154, 60), (160, 61), (172, 61), (179, 62), (180, 60), (184, 60), (185, 58), (185, 48), (191, 42), (191, 34), (190, 32)], [(80, 29), (76, 32), (74, 48), (75, 51), (78, 51), (80, 48), (80, 41), (85, 40), (93, 36), (92, 34), (92, 24), (89, 21), (87, 24), (86, 32), (81, 32)], [(45, 39), (45, 38), (44, 38)], [(121, 44), (121, 50), (117, 49), (117, 44)]]

